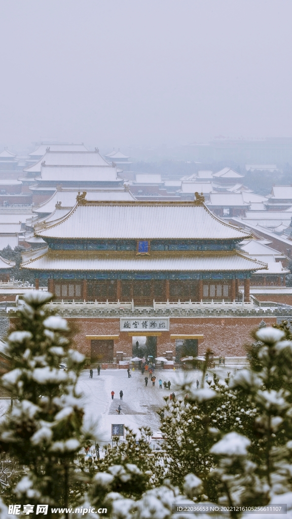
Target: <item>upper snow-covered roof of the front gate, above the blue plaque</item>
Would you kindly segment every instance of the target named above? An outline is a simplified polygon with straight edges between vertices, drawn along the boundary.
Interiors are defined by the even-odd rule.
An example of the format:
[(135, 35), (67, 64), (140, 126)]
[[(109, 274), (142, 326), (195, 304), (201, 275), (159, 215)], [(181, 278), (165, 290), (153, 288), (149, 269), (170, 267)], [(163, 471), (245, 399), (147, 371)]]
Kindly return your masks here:
[[(87, 198), (90, 197), (88, 193)], [(68, 239), (244, 239), (242, 229), (223, 222), (194, 202), (84, 201), (55, 225), (35, 230)]]

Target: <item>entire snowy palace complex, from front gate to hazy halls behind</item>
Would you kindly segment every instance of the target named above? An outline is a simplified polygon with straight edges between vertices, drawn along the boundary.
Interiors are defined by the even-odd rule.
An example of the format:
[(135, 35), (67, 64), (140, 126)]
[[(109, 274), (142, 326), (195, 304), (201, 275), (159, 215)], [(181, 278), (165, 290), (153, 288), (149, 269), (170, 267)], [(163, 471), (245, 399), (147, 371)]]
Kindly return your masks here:
[[(249, 163), (246, 171), (274, 171)], [(261, 196), (231, 167), (181, 179), (135, 172), (120, 149), (41, 144), (0, 154), (0, 249), (23, 245), (21, 272), (74, 322), (92, 361), (207, 348), (244, 357), (250, 331), (289, 318), (292, 187)], [(0, 336), (34, 287), (0, 257)], [(2, 274), (1, 274), (2, 273)], [(1, 303), (2, 302), (2, 303)], [(140, 337), (140, 339), (139, 339)], [(133, 345), (134, 344), (134, 348)]]

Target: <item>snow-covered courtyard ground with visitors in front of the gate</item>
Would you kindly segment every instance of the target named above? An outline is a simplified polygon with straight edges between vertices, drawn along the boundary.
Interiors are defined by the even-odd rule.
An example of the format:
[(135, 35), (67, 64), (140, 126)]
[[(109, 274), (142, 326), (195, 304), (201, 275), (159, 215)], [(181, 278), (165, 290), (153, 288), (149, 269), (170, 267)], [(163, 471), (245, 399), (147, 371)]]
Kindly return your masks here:
[[(227, 376), (227, 368), (217, 368), (208, 370), (209, 379), (213, 379), (213, 372), (219, 378)], [(97, 422), (98, 436), (100, 440), (111, 439), (111, 424), (124, 424), (135, 432), (139, 427), (149, 426), (153, 433), (160, 428), (160, 417), (157, 411), (161, 409), (165, 401), (163, 397), (168, 396), (174, 391), (179, 397), (177, 384), (183, 380), (186, 372), (182, 370), (162, 370), (156, 371), (155, 386), (151, 380), (145, 387), (145, 375), (140, 371), (131, 371), (131, 378), (128, 378), (126, 370), (101, 370), (98, 376), (94, 370), (93, 378), (89, 378), (89, 370), (84, 370), (78, 380), (77, 389), (83, 394), (85, 420)], [(187, 372), (187, 376), (193, 380), (202, 379), (202, 372), (193, 370)], [(159, 388), (158, 380), (170, 380), (170, 391)], [(123, 391), (123, 401), (120, 401), (120, 391)], [(114, 391), (114, 400), (111, 398), (111, 391)], [(121, 404), (122, 411), (118, 415), (117, 408)]]

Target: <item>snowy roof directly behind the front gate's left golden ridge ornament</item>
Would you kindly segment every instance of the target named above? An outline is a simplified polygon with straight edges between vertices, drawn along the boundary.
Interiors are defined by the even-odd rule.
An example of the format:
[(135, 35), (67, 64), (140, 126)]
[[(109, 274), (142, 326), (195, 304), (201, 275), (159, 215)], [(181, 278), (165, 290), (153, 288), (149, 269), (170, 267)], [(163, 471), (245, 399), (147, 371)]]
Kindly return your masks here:
[[(61, 207), (74, 207), (76, 204), (76, 197), (78, 195), (78, 191), (76, 190), (61, 190), (56, 191), (54, 195), (43, 202), (40, 206), (34, 209), (35, 213), (47, 213), (50, 214), (56, 209), (56, 203), (60, 203)], [(136, 200), (134, 195), (132, 195), (129, 191), (126, 190), (102, 190), (102, 191), (87, 191), (88, 200), (101, 200), (101, 201), (130, 201)]]

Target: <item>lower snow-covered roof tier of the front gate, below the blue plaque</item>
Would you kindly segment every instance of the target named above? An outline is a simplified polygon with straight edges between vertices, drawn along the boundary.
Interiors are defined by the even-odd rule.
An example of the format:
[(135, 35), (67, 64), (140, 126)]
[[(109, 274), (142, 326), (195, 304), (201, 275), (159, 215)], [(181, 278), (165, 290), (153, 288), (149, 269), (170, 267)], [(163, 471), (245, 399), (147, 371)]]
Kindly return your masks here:
[(236, 251), (222, 253), (151, 252), (137, 256), (135, 252), (54, 251), (48, 248), (24, 252), (24, 268), (33, 270), (95, 271), (254, 271), (267, 268)]

